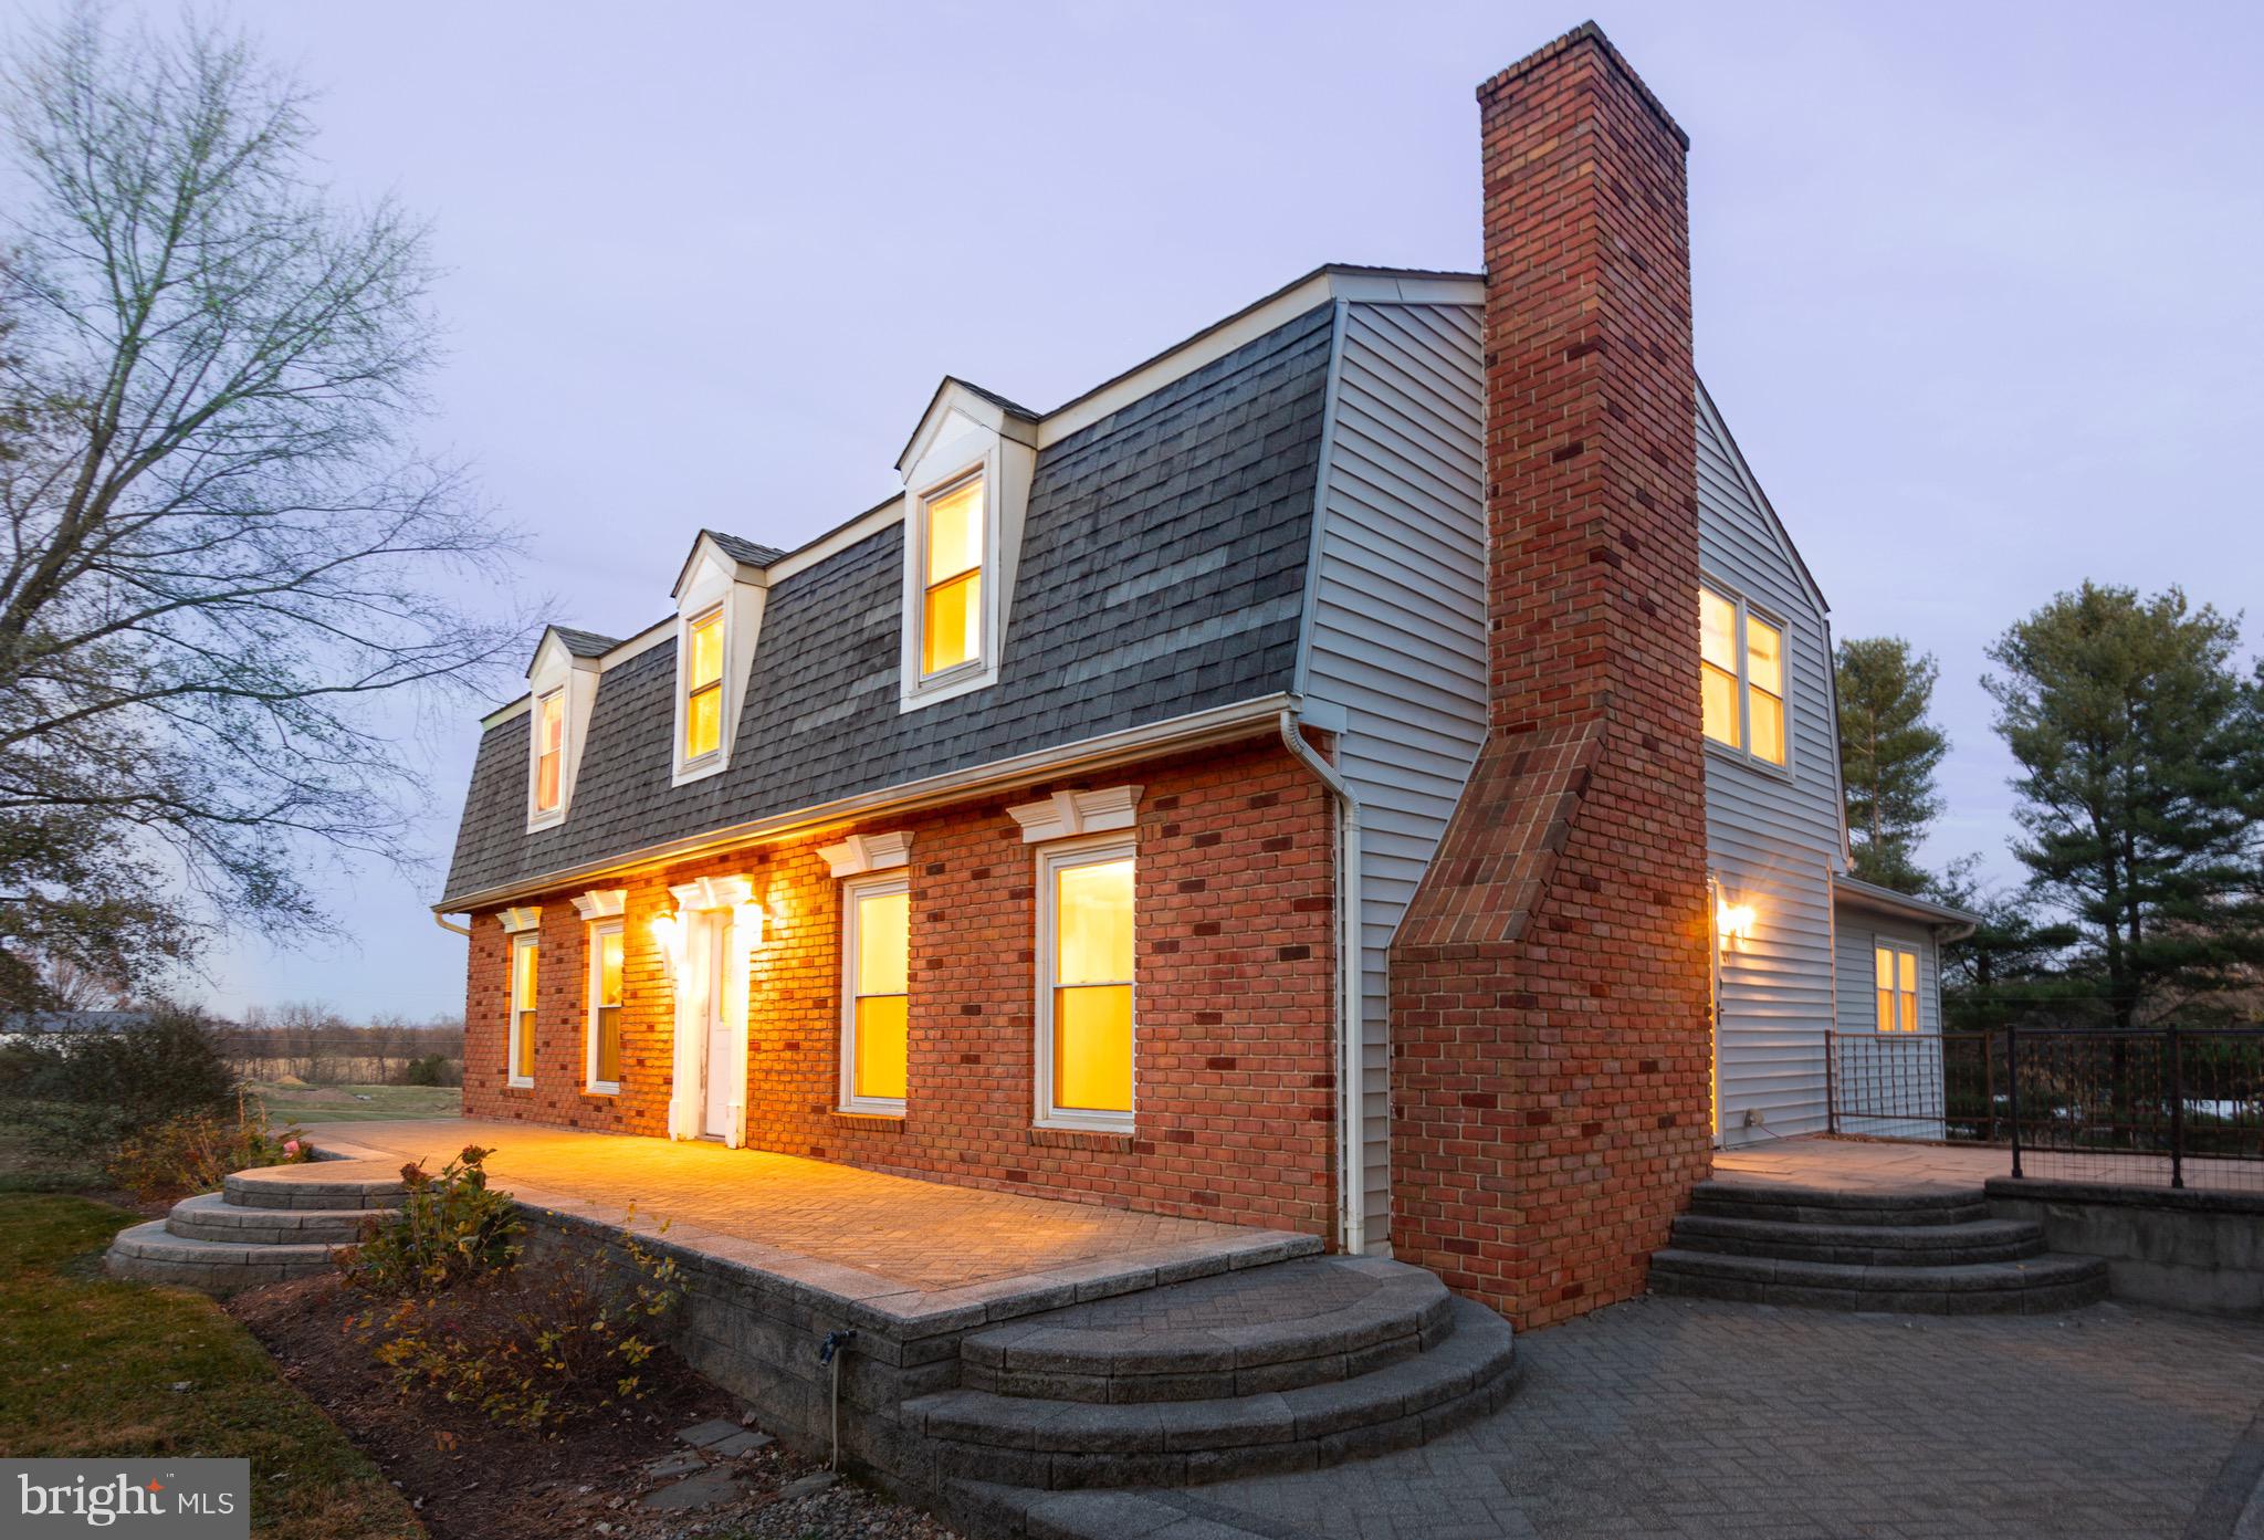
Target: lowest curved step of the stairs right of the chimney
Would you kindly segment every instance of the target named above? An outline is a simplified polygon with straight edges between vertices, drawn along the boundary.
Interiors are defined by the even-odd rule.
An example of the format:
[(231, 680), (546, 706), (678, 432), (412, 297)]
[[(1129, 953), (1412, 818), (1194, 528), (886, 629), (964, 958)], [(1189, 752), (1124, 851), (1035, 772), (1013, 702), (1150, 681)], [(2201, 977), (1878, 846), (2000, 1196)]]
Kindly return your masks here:
[(2108, 1264), (2044, 1252), (2024, 1261), (1854, 1266), (1669, 1246), (1650, 1257), (1650, 1293), (1915, 1316), (2044, 1316), (2103, 1300)]

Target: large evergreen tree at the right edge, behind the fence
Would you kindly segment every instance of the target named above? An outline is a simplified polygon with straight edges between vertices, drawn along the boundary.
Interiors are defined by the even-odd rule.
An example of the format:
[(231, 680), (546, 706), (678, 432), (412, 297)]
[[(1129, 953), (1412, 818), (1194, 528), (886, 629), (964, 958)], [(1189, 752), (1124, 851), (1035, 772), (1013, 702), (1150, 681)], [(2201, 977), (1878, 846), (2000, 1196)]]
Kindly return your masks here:
[(2124, 1028), (2264, 962), (2264, 675), (2237, 648), (2239, 623), (2178, 589), (2090, 582), (1990, 648), (2015, 854)]

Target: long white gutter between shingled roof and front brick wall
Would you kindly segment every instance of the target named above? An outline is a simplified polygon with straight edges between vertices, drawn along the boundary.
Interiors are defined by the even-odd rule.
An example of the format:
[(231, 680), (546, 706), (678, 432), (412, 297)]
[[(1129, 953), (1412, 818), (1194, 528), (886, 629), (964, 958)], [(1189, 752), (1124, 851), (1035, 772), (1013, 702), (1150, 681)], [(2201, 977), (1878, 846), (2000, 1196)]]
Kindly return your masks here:
[(967, 770), (946, 770), (944, 775), (931, 775), (919, 781), (903, 781), (901, 786), (885, 786), (881, 790), (858, 793), (854, 797), (840, 797), (835, 802), (820, 802), (806, 808), (795, 808), (790, 813), (756, 818), (745, 824), (709, 829), (706, 833), (691, 833), (684, 836), (681, 840), (663, 840), (661, 845), (645, 845), (641, 849), (620, 852), (616, 856), (602, 856), (598, 861), (584, 861), (580, 865), (557, 867), (555, 872), (537, 872), (534, 876), (521, 876), (509, 883), (500, 883), (496, 888), (480, 888), (475, 892), (455, 892), (435, 904), (432, 913), (466, 913), (475, 908), (494, 908), (496, 904), (505, 904), (509, 899), (530, 892), (546, 892), (550, 888), (561, 888), (566, 883), (584, 881), (589, 876), (611, 876), (614, 872), (632, 872), (636, 867), (654, 865), (657, 861), (679, 861), (684, 856), (709, 854), (718, 849), (767, 845), (770, 840), (779, 840), (790, 833), (808, 833), (813, 829), (822, 829), (824, 824), (840, 824), (854, 818), (865, 818), (869, 813), (881, 813), (881, 811), (908, 813), (942, 802), (962, 802), (967, 797), (987, 790), (1003, 790), (1026, 781), (1050, 779), (1055, 775), (1075, 775), (1082, 770), (1121, 765), (1134, 759), (1146, 759), (1159, 750), (1202, 747), (1207, 743), (1229, 743), (1234, 738), (1250, 738), (1263, 734), (1275, 722), (1277, 716), (1286, 713), (1293, 707), (1295, 698), (1277, 691), (1272, 695), (1259, 695), (1254, 700), (1234, 702), (1232, 707), (1189, 711), (1186, 716), (1175, 716), (1161, 722), (1148, 722), (1146, 727), (1125, 727), (1123, 732), (1103, 734), (1098, 738), (1087, 738), (1082, 743), (1071, 743), (1064, 747), (1014, 754), (1012, 759), (994, 759), (987, 765), (969, 765)]

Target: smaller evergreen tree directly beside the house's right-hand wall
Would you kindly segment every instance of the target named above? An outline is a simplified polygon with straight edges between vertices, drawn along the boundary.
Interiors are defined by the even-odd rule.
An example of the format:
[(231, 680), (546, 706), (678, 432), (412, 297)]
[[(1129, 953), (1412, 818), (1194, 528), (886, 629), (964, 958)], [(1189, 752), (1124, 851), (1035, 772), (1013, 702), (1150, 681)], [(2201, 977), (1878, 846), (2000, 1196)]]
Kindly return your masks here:
[(1902, 636), (1838, 645), (1841, 781), (1847, 840), (1863, 881), (1918, 892), (1927, 883), (1918, 842), (1943, 811), (1933, 770), (1949, 738), (1929, 720), (1938, 668)]

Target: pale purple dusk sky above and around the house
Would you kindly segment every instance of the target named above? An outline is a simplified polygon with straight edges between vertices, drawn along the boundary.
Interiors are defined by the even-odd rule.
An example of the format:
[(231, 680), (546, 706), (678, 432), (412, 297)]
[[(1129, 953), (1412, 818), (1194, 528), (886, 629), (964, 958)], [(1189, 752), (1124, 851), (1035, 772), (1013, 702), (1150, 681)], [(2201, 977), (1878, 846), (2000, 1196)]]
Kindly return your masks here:
[[(170, 16), (172, 7), (147, 7)], [(437, 226), (444, 442), (525, 587), (625, 634), (693, 532), (892, 491), (940, 374), (1050, 408), (1324, 260), (1478, 263), (1503, 5), (235, 7), (328, 88), (346, 192)], [(2264, 578), (2264, 11), (1614, 5), (1689, 129), (1698, 369), (1841, 636), (1940, 657), (1949, 818), (2008, 872), (1983, 645), (2081, 578)], [(2253, 625), (2264, 634), (2264, 616)], [(435, 856), (475, 722), (437, 745)], [(215, 1003), (462, 1003), (426, 881)]]

